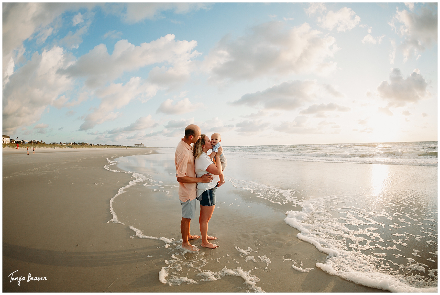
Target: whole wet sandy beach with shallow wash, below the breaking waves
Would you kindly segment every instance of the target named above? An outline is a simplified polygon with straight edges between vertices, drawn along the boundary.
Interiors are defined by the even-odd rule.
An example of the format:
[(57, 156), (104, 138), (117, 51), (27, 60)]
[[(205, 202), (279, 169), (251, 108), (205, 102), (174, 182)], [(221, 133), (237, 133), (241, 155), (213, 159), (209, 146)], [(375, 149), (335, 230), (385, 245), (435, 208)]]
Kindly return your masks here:
[[(397, 198), (393, 199), (396, 208), (402, 198), (409, 204), (416, 200), (415, 192), (423, 208), (414, 210), (436, 212), (436, 167), (316, 163), (241, 157), (240, 153), (228, 154), (226, 183), (217, 189), (209, 222), (208, 233), (218, 237), (215, 243), (220, 247), (202, 248), (200, 239), (192, 240), (201, 250), (188, 253), (179, 242), (181, 205), (173, 149), (45, 150), (29, 157), (26, 151), (4, 149), (3, 291), (377, 292), (400, 288), (399, 284), (370, 288), (365, 280), (348, 276), (358, 271), (349, 263), (350, 270), (338, 273), (342, 256), (333, 255), (332, 261), (327, 250), (318, 248), (341, 254), (335, 241), (343, 239), (351, 247), (348, 251), (356, 248), (373, 260), (382, 257), (378, 261), (383, 262), (386, 251), (396, 251), (398, 241), (402, 256), (418, 259), (407, 247), (414, 239), (397, 240), (406, 233), (418, 237), (408, 225), (412, 221), (402, 217), (417, 218), (401, 208), (397, 217), (392, 217), (394, 211), (386, 215), (377, 209), (392, 206), (390, 196)], [(414, 183), (402, 185), (408, 179)], [(319, 208), (327, 203), (333, 208)], [(335, 241), (323, 230), (334, 226), (331, 222), (336, 219), (325, 219), (330, 211), (348, 228), (339, 233), (334, 227), (334, 236), (340, 237)], [(363, 221), (355, 222), (356, 218)], [(389, 229), (390, 218), (399, 225)], [(431, 228), (436, 226), (432, 217), (426, 219)], [(317, 223), (323, 220), (325, 224)], [(387, 233), (377, 234), (379, 227)], [(387, 242), (388, 232), (396, 235), (394, 242)], [(200, 233), (197, 219), (191, 221), (191, 233)], [(414, 240), (418, 243), (415, 254), (429, 269), (436, 269), (436, 263), (426, 261), (428, 257), (436, 260), (436, 255), (428, 254), (436, 249), (436, 233), (435, 227), (428, 244)], [(313, 239), (320, 235), (323, 240), (317, 244)], [(365, 248), (365, 238), (356, 240), (355, 235), (376, 239), (381, 248), (386, 248), (382, 242), (389, 243), (389, 249)], [(388, 253), (387, 260), (391, 257)], [(7, 277), (15, 270), (14, 277), (27, 280), (31, 273), (46, 280), (22, 280), (18, 285)], [(434, 286), (413, 288), (417, 287)]]

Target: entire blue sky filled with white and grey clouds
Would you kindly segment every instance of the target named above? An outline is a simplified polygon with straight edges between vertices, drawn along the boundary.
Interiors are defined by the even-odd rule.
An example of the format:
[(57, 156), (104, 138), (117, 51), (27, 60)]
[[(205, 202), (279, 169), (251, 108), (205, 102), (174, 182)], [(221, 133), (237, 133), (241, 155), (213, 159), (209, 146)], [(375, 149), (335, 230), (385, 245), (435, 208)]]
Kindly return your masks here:
[(436, 3), (3, 4), (3, 134), (437, 140)]

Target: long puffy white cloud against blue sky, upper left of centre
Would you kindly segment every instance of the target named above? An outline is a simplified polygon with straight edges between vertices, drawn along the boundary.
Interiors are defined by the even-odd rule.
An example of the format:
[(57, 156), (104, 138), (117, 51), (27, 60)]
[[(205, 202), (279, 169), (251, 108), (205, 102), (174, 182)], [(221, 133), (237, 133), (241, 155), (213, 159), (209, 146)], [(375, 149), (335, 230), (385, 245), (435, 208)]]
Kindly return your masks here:
[[(184, 78), (187, 79), (190, 68), (193, 67), (191, 58), (199, 55), (197, 51), (193, 51), (197, 42), (174, 39), (174, 35), (168, 34), (150, 43), (142, 43), (140, 46), (135, 46), (127, 40), (119, 40), (114, 45), (111, 55), (107, 52), (105, 44), (99, 44), (82, 55), (66, 72), (71, 76), (85, 76), (87, 86), (97, 87), (113, 81), (124, 72), (166, 62), (175, 67), (154, 68), (150, 79), (161, 84), (165, 84), (167, 79), (174, 82), (173, 79), (176, 77), (182, 80), (182, 74), (186, 75)], [(168, 76), (164, 77), (160, 74)]]

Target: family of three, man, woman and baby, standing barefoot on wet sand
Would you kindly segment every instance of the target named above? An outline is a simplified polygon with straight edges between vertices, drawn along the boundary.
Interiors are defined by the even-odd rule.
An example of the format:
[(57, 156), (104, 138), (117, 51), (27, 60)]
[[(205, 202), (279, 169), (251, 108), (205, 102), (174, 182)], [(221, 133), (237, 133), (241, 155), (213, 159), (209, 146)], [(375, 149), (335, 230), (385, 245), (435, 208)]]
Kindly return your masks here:
[[(189, 240), (200, 237), (190, 234), (191, 219), (195, 218), (196, 199), (200, 202), (198, 221), (202, 234), (202, 247), (213, 249), (218, 247), (208, 241), (217, 239), (208, 236), (208, 222), (216, 205), (216, 189), (224, 184), (223, 171), (227, 165), (220, 142), (220, 134), (214, 133), (209, 139), (207, 135), (202, 134), (200, 127), (191, 124), (185, 128), (185, 136), (176, 148), (174, 163), (177, 182), (179, 182), (179, 200), (182, 204), (180, 223), (182, 247), (190, 251), (199, 251), (196, 246), (189, 243)], [(208, 155), (210, 149), (212, 153)]]

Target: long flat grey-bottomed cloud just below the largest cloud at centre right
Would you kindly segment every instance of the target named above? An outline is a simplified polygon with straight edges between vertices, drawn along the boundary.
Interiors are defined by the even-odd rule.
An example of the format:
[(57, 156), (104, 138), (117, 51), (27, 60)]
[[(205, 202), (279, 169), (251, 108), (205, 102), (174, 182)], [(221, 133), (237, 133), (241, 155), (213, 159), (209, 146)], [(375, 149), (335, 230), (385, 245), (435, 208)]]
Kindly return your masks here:
[(233, 105), (264, 106), (265, 109), (292, 110), (311, 101), (318, 95), (341, 96), (332, 85), (320, 86), (316, 80), (294, 80), (267, 88), (264, 91), (247, 93)]

